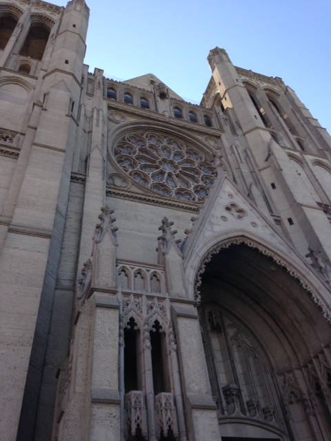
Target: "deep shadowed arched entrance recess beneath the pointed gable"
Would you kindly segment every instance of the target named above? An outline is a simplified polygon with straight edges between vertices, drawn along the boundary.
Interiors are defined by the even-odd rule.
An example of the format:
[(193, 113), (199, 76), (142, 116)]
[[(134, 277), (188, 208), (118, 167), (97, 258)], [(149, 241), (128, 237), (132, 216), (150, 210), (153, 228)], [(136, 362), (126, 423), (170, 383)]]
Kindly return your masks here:
[(280, 261), (234, 243), (208, 257), (200, 287), (222, 440), (330, 440), (330, 324)]

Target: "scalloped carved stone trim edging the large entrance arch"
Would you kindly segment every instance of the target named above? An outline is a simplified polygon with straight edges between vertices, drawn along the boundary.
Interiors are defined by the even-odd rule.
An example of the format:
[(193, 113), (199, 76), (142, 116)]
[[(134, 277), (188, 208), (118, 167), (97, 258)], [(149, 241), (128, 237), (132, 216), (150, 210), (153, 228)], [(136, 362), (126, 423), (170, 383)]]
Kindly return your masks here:
[(201, 285), (201, 274), (203, 274), (203, 272), (205, 271), (205, 265), (207, 265), (207, 263), (210, 262), (210, 260), (212, 259), (212, 256), (214, 256), (214, 254), (218, 254), (221, 251), (221, 249), (226, 249), (232, 245), (241, 245), (241, 244), (247, 245), (250, 248), (257, 249), (261, 254), (263, 254), (263, 256), (272, 258), (272, 260), (274, 260), (274, 263), (277, 263), (277, 265), (279, 265), (280, 267), (285, 268), (286, 271), (288, 272), (288, 274), (290, 274), (290, 276), (299, 280), (301, 287), (303, 287), (303, 289), (305, 289), (305, 291), (308, 291), (310, 293), (310, 295), (312, 297), (312, 301), (314, 303), (316, 303), (316, 305), (321, 309), (321, 312), (322, 312), (325, 320), (328, 320), (328, 322), (331, 323), (331, 314), (330, 314), (328, 307), (326, 307), (325, 303), (323, 302), (323, 300), (319, 296), (318, 292), (315, 291), (309, 285), (307, 280), (305, 280), (305, 278), (303, 276), (301, 276), (301, 274), (298, 274), (297, 271), (294, 268), (292, 268), (288, 263), (284, 262), (281, 258), (279, 258), (279, 256), (277, 256), (277, 254), (264, 248), (259, 243), (255, 243), (253, 240), (249, 240), (246, 238), (231, 238), (229, 240), (225, 240), (224, 242), (219, 243), (219, 244), (215, 245), (214, 247), (212, 247), (212, 249), (210, 249), (203, 256), (203, 258), (201, 259), (200, 265), (198, 267), (197, 274), (195, 276), (195, 281), (194, 281), (194, 299), (197, 301), (198, 304), (200, 304), (200, 299), (201, 299), (200, 292), (199, 292), (199, 286)]

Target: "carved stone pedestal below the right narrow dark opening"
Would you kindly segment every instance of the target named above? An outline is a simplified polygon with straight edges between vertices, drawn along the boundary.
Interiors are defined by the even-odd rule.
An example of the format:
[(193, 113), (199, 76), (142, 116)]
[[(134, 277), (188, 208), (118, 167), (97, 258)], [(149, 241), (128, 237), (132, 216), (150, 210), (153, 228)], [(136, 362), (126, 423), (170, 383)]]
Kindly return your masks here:
[(179, 441), (176, 408), (172, 393), (161, 392), (155, 396), (155, 409), (157, 411), (157, 439), (159, 440), (162, 434), (167, 437), (168, 430), (171, 430), (174, 438)]

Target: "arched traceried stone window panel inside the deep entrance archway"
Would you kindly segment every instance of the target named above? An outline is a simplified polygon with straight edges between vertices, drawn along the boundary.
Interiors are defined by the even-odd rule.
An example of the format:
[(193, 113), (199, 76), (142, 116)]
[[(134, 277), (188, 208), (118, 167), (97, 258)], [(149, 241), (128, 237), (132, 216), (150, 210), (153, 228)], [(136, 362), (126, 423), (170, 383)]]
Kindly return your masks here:
[(274, 416), (279, 402), (271, 366), (254, 336), (214, 303), (200, 307), (199, 317), (219, 416)]

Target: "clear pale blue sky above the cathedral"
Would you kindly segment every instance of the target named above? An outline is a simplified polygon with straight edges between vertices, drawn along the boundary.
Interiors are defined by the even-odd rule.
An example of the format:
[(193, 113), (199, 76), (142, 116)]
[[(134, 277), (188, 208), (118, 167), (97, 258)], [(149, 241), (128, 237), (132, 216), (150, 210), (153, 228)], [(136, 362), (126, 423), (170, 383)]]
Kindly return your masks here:
[[(53, 0), (66, 6), (66, 0)], [(87, 0), (86, 64), (131, 79), (152, 73), (200, 101), (210, 49), (281, 76), (331, 133), (331, 0)]]

